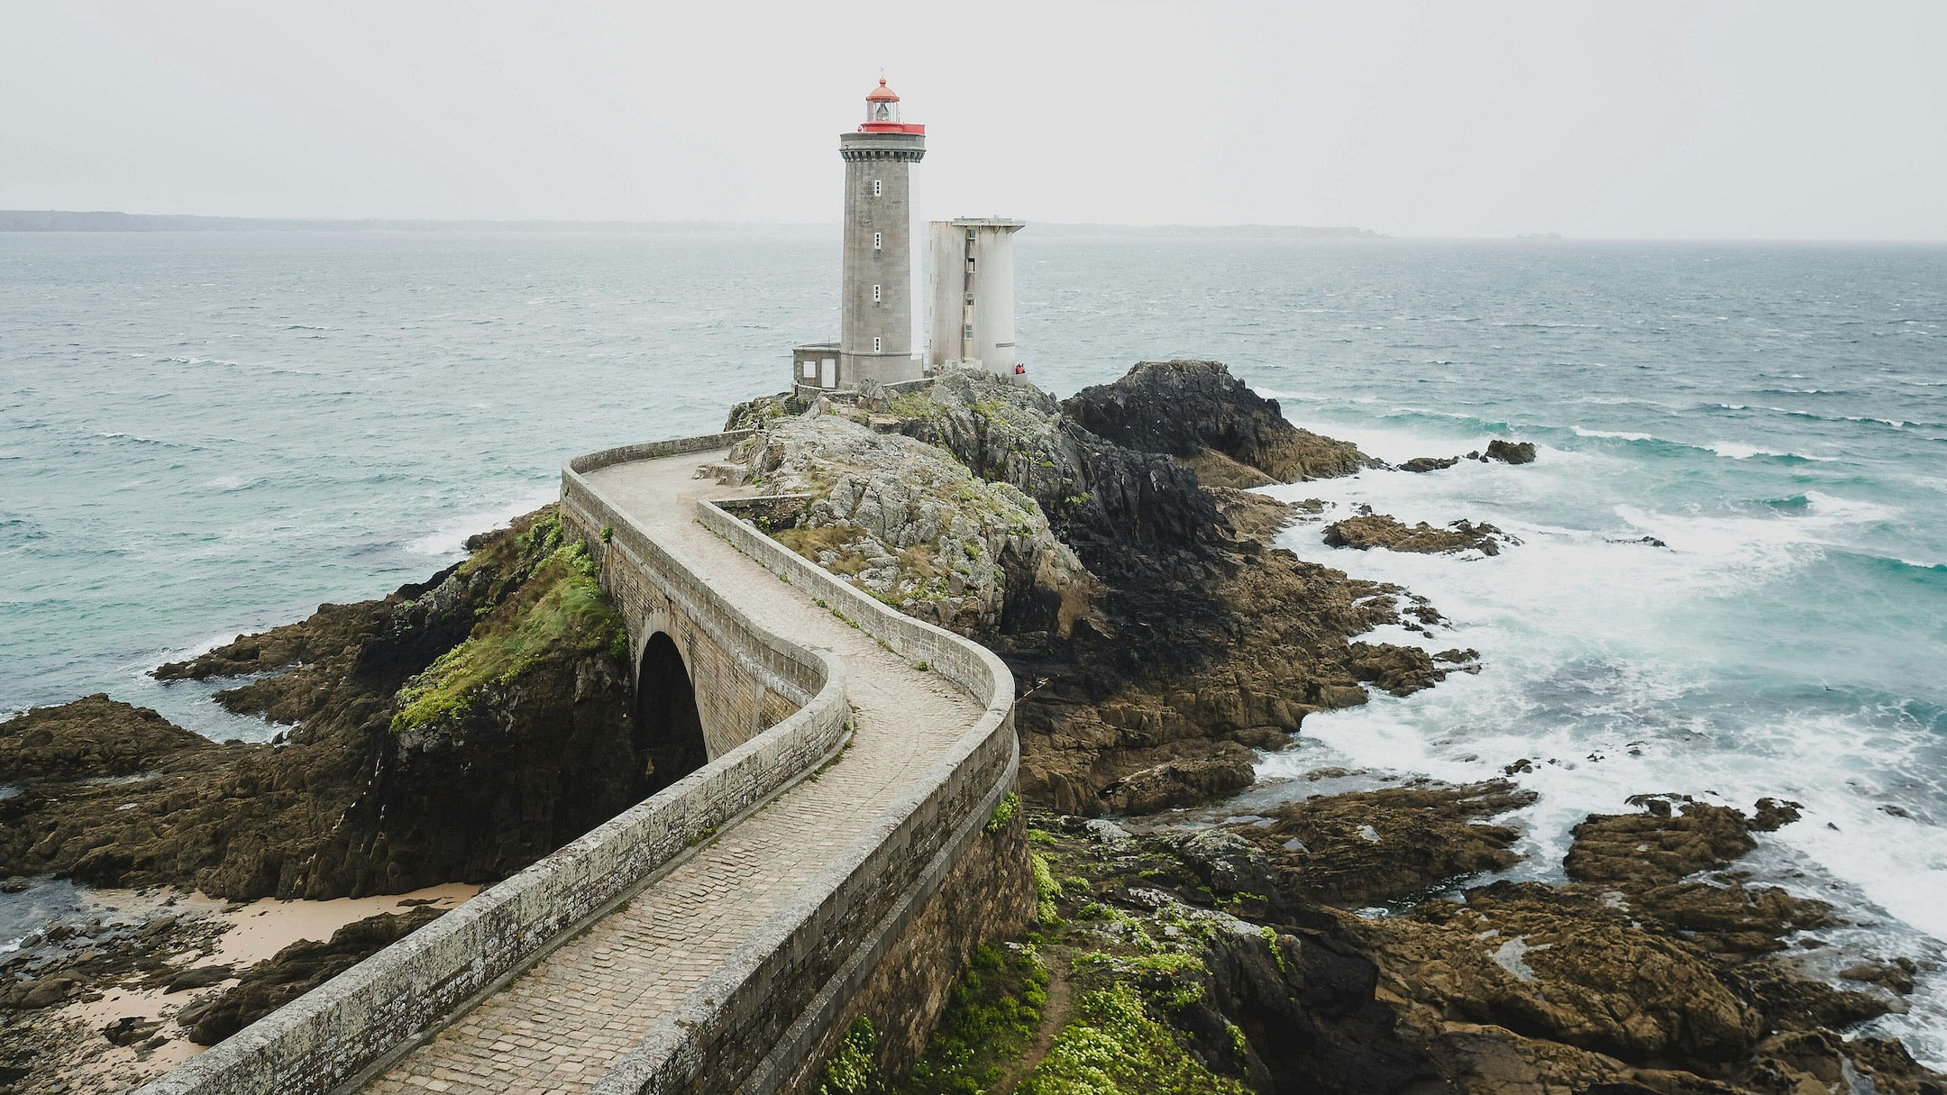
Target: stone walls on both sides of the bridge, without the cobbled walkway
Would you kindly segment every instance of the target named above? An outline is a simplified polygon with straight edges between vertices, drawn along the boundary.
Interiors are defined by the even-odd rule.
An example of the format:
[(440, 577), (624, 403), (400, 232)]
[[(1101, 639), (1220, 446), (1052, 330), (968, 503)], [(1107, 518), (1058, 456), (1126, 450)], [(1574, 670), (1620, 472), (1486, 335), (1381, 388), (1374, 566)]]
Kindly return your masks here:
[[(802, 707), (245, 1027), (144, 1095), (325, 1093), (370, 1076), (629, 900), (709, 832), (837, 756), (851, 717), (843, 662), (757, 627), (584, 477), (633, 460), (715, 452), (748, 433), (576, 458), (563, 470), (563, 520), (590, 548), (600, 546), (604, 583), (623, 604), (637, 643), (646, 635), (635, 631), (656, 620), (709, 639), (697, 649), (713, 651), (715, 668), (695, 651), (685, 657), (703, 676), (699, 694), (707, 686), (742, 690), (720, 721), (761, 723), (765, 713)], [(816, 1087), (808, 1062), (827, 1052), (861, 998), (882, 1021), (898, 1007), (919, 1025), (931, 1023), (972, 941), (1032, 906), (1018, 832), (999, 844), (983, 834), (1020, 762), (1014, 678), (1001, 659), (872, 600), (716, 505), (699, 503), (697, 520), (900, 657), (927, 662), (972, 696), (981, 715), (594, 1083), (604, 1095)], [(1009, 879), (1018, 892), (991, 892)], [(960, 900), (968, 908), (946, 908)]]

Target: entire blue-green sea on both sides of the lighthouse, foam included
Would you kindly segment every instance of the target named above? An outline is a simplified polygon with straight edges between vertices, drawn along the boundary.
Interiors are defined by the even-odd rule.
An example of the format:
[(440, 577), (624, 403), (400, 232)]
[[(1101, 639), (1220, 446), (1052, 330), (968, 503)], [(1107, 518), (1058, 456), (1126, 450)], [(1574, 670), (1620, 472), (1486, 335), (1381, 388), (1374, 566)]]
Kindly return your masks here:
[[(0, 711), (109, 692), (269, 736), (148, 668), (424, 579), (574, 452), (718, 429), (835, 333), (835, 257), (785, 230), (0, 236)], [(1390, 462), (1540, 446), (1271, 489), (1521, 544), (1283, 534), (1431, 598), (1433, 637), (1378, 637), (1482, 672), (1312, 715), (1262, 775), (1528, 760), (1515, 875), (1544, 879), (1634, 793), (1791, 799), (1745, 865), (1852, 922), (1813, 970), (1943, 961), (1947, 247), (1030, 228), (1016, 283), (1057, 394), (1203, 357)], [(1947, 978), (1873, 1029), (1947, 1066)]]

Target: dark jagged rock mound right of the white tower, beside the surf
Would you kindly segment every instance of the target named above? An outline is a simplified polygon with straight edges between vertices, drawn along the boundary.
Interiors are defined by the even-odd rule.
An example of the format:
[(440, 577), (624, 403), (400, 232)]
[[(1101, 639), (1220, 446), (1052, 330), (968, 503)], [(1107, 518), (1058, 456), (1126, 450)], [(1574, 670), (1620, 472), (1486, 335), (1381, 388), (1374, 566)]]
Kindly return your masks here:
[(1182, 458), (1211, 450), (1283, 483), (1375, 466), (1351, 444), (1293, 427), (1277, 399), (1258, 396), (1215, 360), (1145, 360), (1114, 384), (1083, 388), (1063, 409), (1127, 448)]

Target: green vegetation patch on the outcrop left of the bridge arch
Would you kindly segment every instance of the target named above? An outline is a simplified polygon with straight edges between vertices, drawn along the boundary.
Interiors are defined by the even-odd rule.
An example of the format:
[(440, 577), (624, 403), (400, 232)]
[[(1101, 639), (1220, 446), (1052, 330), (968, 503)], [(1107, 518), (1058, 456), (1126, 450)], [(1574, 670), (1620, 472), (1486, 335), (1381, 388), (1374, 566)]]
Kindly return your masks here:
[(405, 682), (393, 733), (458, 721), (489, 688), (504, 688), (547, 659), (629, 657), (629, 635), (596, 565), (586, 546), (563, 542), (559, 514), (475, 551), (461, 573), (475, 571), (493, 573), (485, 614), (465, 641)]

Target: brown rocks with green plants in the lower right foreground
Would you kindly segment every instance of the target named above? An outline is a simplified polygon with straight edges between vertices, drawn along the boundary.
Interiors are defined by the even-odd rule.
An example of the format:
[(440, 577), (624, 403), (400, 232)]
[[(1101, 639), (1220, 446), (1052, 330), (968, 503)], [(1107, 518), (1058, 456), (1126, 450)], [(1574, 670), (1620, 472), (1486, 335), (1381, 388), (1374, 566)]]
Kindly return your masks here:
[[(1727, 943), (1743, 929), (1667, 920), (1645, 896), (1680, 885), (1672, 871), (1688, 863), (1735, 865), (1754, 820), (1739, 811), (1593, 816), (1577, 846), (1600, 846), (1614, 879), (1427, 898), (1427, 887), (1452, 883), (1451, 871), (1505, 867), (1513, 828), (1480, 822), (1526, 801), (1501, 781), (1423, 783), (1153, 836), (1038, 816), (1042, 924), (1009, 964), (1044, 974), (1030, 968), (1009, 1007), (989, 984), (1014, 982), (970, 970), (929, 1050), (931, 1087), (898, 1089), (942, 1089), (960, 1076), (952, 1062), (1061, 1089), (1065, 1040), (1084, 1040), (1149, 1062), (1147, 1081), (1106, 1064), (1100, 1076), (1118, 1091), (1155, 1089), (1157, 1077), (1172, 1089), (1277, 1093), (1943, 1091), (1947, 1077), (1898, 1042), (1840, 1035), (1887, 1000)], [(1301, 834), (1304, 851), (1287, 850)], [(1462, 851), (1449, 857), (1449, 842)], [(1637, 844), (1647, 850), (1630, 871)], [(1735, 875), (1709, 885), (1758, 902)], [(1394, 912), (1336, 908), (1363, 902)], [(1776, 941), (1803, 924), (1782, 918), (1762, 931)], [(1121, 1005), (1106, 1009), (1106, 1000)]]

